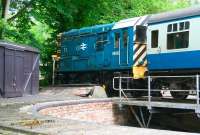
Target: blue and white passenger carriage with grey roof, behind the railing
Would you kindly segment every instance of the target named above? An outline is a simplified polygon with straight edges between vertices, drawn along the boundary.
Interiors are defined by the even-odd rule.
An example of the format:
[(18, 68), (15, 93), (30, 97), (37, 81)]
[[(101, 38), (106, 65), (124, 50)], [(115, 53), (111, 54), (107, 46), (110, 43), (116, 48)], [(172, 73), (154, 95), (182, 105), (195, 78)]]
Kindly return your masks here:
[[(147, 60), (150, 74), (188, 75), (200, 72), (200, 8), (155, 14), (148, 20)], [(192, 79), (158, 79), (169, 89), (195, 89)], [(181, 83), (180, 83), (181, 82)], [(171, 92), (186, 98), (187, 92)]]

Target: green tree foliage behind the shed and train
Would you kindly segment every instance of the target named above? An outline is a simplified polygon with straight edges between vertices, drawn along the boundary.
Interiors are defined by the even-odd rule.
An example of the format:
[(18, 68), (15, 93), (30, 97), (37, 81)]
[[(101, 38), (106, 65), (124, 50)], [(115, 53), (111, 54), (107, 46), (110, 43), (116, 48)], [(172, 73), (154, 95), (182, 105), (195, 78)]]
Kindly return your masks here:
[(0, 20), (0, 30), (6, 40), (39, 49), (41, 71), (50, 80), (59, 33), (188, 6), (190, 0), (12, 0), (10, 16), (20, 14), (7, 24)]

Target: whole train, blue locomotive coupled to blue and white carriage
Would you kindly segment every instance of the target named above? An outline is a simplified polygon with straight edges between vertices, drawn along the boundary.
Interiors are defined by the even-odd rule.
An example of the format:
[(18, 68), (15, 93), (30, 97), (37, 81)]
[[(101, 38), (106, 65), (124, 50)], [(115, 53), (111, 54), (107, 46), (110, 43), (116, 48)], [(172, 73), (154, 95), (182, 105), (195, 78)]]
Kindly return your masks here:
[[(93, 75), (91, 80), (107, 86), (112, 85), (115, 73), (133, 74), (136, 87), (147, 87), (141, 79), (145, 74), (199, 73), (199, 24), (200, 8), (189, 8), (65, 32), (61, 36), (60, 72), (71, 77)], [(191, 79), (180, 83), (180, 79), (159, 78), (153, 84), (159, 89), (195, 87)], [(171, 94), (175, 98), (188, 95)]]

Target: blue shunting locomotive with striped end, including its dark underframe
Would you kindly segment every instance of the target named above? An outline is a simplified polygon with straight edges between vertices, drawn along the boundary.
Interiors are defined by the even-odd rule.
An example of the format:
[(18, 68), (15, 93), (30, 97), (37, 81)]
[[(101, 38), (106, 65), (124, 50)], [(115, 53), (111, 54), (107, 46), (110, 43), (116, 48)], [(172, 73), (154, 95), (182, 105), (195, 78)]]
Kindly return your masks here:
[(62, 33), (59, 70), (65, 83), (112, 84), (115, 73), (130, 74), (138, 64), (146, 67), (147, 19), (142, 16)]

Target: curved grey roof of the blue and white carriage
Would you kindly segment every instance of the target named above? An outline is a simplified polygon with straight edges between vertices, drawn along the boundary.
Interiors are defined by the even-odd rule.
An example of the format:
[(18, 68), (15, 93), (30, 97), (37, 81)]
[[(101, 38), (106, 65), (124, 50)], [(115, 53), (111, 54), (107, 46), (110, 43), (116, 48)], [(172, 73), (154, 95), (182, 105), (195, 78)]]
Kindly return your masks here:
[(151, 15), (148, 24), (160, 23), (193, 16), (200, 16), (200, 7), (185, 8), (170, 12), (154, 14)]

